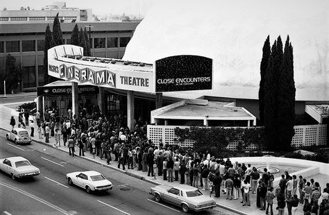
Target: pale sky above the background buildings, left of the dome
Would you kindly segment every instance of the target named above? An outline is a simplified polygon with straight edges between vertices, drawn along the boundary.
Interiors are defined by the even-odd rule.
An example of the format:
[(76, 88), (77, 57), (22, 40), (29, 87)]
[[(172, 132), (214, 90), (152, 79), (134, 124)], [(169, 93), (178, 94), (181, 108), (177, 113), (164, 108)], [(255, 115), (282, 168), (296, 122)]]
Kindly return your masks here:
[[(121, 15), (126, 13), (144, 16), (154, 1), (156, 0), (66, 0), (65, 2), (68, 8), (91, 8), (94, 15)], [(7, 8), (7, 10), (19, 10), (22, 6), (30, 6), (31, 10), (41, 10), (41, 8), (51, 5), (53, 2), (51, 0), (15, 0), (3, 1), (1, 6)]]

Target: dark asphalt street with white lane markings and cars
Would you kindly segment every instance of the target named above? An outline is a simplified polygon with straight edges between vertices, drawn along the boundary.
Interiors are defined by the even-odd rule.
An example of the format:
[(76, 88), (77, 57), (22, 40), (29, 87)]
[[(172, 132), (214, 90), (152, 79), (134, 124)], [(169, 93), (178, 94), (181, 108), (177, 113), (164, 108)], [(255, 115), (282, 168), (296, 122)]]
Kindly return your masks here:
[[(0, 98), (3, 99), (3, 98)], [(7, 99), (7, 98), (6, 98)], [(16, 104), (17, 98), (12, 98)], [(31, 100), (31, 98), (28, 98)], [(1, 102), (2, 100), (0, 100)], [(9, 100), (10, 101), (10, 100)], [(1, 103), (3, 104), (3, 103)], [(7, 118), (12, 107), (0, 105), (0, 128), (10, 128)], [(10, 108), (11, 107), (11, 108)], [(17, 117), (15, 117), (17, 119)], [(28, 128), (29, 129), (29, 128)], [(126, 171), (107, 166), (99, 157), (71, 157), (67, 148), (53, 148), (36, 139), (31, 145), (15, 145), (6, 140), (6, 131), (0, 130), (0, 157), (23, 156), (42, 172), (33, 179), (13, 181), (9, 175), (0, 173), (0, 213), (8, 214), (180, 214), (180, 207), (167, 203), (155, 203), (148, 191), (157, 182), (129, 177)], [(51, 138), (51, 143), (53, 138)], [(87, 152), (86, 155), (89, 153)], [(110, 167), (110, 168), (109, 168)], [(88, 194), (78, 187), (70, 187), (66, 173), (96, 170), (114, 184), (106, 193)], [(129, 173), (128, 173), (129, 174)], [(24, 207), (24, 211), (22, 208)], [(5, 213), (5, 214), (6, 214)], [(197, 214), (191, 212), (192, 214)], [(235, 214), (217, 207), (203, 214)]]

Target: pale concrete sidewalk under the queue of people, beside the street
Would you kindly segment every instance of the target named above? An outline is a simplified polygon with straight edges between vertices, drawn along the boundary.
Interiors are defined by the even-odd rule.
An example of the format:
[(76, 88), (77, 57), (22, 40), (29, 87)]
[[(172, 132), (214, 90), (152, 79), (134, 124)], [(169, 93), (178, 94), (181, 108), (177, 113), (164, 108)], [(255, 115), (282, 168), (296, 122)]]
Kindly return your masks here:
[[(0, 110), (1, 112), (3, 112), (3, 106), (0, 105)], [(10, 111), (9, 110), (9, 107), (6, 107), (6, 111)], [(8, 115), (6, 116), (8, 118)], [(1, 114), (0, 114), (0, 119), (3, 119), (3, 117), (1, 117)], [(17, 117), (15, 117), (15, 119), (17, 120)], [(7, 123), (8, 120), (0, 120), (0, 129), (2, 130), (9, 130), (10, 129), (10, 126), (9, 126), (9, 123)], [(28, 130), (29, 133), (31, 133), (31, 128), (29, 126), (26, 127), (26, 130)], [(54, 137), (51, 137), (49, 139), (49, 143), (45, 143), (45, 138), (43, 137), (43, 139), (39, 139), (38, 135), (37, 135), (37, 132), (36, 132), (36, 129), (35, 129), (35, 137), (32, 138), (33, 141), (39, 143), (39, 144), (44, 144), (44, 145), (47, 145), (47, 146), (51, 146), (51, 147), (54, 147), (53, 145), (55, 144), (55, 138)], [(61, 139), (61, 146), (58, 146), (57, 148), (58, 150), (61, 150), (62, 153), (69, 153), (68, 151), (68, 148), (65, 148), (63, 146), (63, 143), (62, 143), (62, 139)], [(75, 147), (76, 149), (76, 155), (78, 155), (78, 147), (76, 146)], [(101, 160), (100, 157), (97, 157), (95, 155), (95, 157), (93, 157), (92, 154), (90, 154), (89, 151), (86, 151), (85, 152), (85, 156), (81, 156), (82, 159), (84, 160), (88, 160), (90, 162), (94, 162), (96, 164), (101, 164), (103, 166), (107, 166), (108, 168), (110, 169), (115, 169), (117, 171), (121, 171), (122, 173), (125, 173), (126, 175), (130, 175), (134, 178), (138, 178), (140, 180), (144, 180), (144, 181), (147, 181), (147, 182), (151, 182), (153, 184), (170, 184), (170, 185), (176, 185), (176, 184), (179, 184), (179, 181), (174, 181), (174, 182), (168, 182), (167, 180), (163, 180), (162, 177), (158, 177), (158, 176), (155, 176), (156, 178), (154, 177), (148, 177), (147, 176), (147, 172), (142, 172), (142, 171), (137, 171), (137, 169), (128, 169), (128, 167), (126, 166), (126, 170), (123, 171), (122, 169), (117, 169), (117, 162), (114, 162), (114, 155), (112, 155), (112, 161), (110, 162), (110, 165), (106, 164), (106, 159), (103, 159)], [(316, 178), (317, 180), (316, 181), (319, 181), (321, 182), (328, 182), (328, 175), (321, 175), (321, 174), (318, 174), (318, 175), (314, 175), (314, 178)], [(200, 189), (202, 189), (202, 187), (199, 187)], [(204, 195), (207, 195), (209, 196), (210, 193), (209, 191), (202, 191)], [(212, 197), (214, 198), (214, 193), (212, 193)], [(260, 209), (258, 207), (256, 207), (256, 195), (251, 193), (250, 194), (250, 198), (251, 198), (251, 206), (248, 207), (248, 206), (242, 206), (242, 203), (240, 203), (242, 201), (242, 198), (240, 196), (239, 199), (237, 200), (226, 200), (226, 194), (223, 194), (221, 192), (221, 197), (220, 198), (214, 198), (214, 200), (216, 200), (217, 202), (217, 205), (219, 207), (222, 207), (224, 209), (228, 209), (232, 212), (235, 212), (237, 214), (255, 214), (255, 215), (258, 215), (258, 214), (265, 214), (264, 211), (260, 211)], [(274, 199), (274, 204), (273, 204), (273, 212), (274, 214), (277, 214), (277, 210), (276, 210), (276, 202), (277, 200)], [(285, 208), (285, 214), (287, 214), (287, 207)], [(303, 214), (303, 205), (299, 204), (298, 205), (298, 209), (297, 209), (297, 213), (296, 214)]]

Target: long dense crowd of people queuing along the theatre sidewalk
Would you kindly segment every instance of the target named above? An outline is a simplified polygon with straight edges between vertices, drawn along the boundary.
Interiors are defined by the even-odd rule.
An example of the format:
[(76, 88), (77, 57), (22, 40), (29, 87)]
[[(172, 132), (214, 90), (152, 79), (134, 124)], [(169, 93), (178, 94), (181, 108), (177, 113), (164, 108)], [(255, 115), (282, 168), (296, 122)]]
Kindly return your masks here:
[(302, 175), (297, 178), (286, 171), (278, 186), (273, 187), (274, 176), (267, 168), (260, 172), (251, 164), (233, 164), (229, 158), (223, 160), (211, 157), (209, 152), (169, 146), (162, 140), (155, 146), (146, 137), (147, 123), (142, 119), (135, 122), (135, 129), (130, 132), (120, 114), (105, 117), (96, 105), (91, 110), (83, 108), (78, 118), (72, 116), (71, 110), (64, 117), (49, 108), (44, 112), (44, 121), (40, 112), (35, 119), (39, 137), (44, 135), (46, 142), (55, 138), (54, 147), (62, 142), (72, 156), (78, 146), (79, 156), (89, 152), (106, 159), (107, 164), (114, 157), (119, 169), (137, 169), (168, 182), (179, 181), (209, 190), (214, 198), (223, 193), (228, 200), (241, 200), (243, 206), (251, 206), (250, 195), (256, 195), (255, 205), (265, 214), (273, 214), (275, 199), (279, 215), (285, 213), (285, 208), (289, 215), (296, 214), (299, 204), (303, 204), (304, 214), (329, 214), (329, 183), (321, 189), (319, 182), (307, 181)]

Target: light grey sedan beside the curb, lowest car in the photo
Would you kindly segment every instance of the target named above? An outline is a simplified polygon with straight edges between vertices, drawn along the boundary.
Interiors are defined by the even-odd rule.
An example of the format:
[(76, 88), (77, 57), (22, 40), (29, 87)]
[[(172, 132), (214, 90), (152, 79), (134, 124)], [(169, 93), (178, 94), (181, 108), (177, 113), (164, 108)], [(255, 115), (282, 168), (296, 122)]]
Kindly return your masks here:
[(203, 195), (196, 187), (186, 184), (177, 186), (158, 185), (151, 188), (149, 192), (154, 196), (156, 202), (164, 200), (168, 203), (182, 207), (183, 212), (189, 210), (199, 212), (205, 209), (217, 207), (213, 198)]

